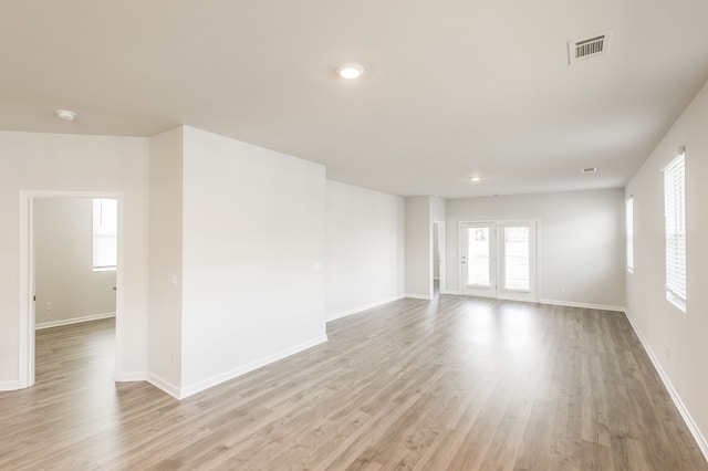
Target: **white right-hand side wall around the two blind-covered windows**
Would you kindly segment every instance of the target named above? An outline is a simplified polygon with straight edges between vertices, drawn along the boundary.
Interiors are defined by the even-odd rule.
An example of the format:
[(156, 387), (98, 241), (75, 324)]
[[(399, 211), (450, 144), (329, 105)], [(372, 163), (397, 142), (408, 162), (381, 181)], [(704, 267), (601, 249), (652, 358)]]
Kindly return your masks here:
[[(627, 307), (655, 364), (680, 398), (708, 457), (708, 84), (694, 98), (626, 188), (634, 197), (635, 270)], [(686, 146), (687, 312), (666, 301), (664, 176)]]

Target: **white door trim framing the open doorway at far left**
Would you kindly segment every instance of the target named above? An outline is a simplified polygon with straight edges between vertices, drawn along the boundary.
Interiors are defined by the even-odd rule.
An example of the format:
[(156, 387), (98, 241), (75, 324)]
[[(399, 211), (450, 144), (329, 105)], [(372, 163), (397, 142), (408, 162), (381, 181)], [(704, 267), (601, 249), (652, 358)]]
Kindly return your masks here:
[(115, 296), (115, 380), (118, 380), (122, 370), (123, 352), (123, 193), (107, 191), (20, 191), (20, 263), (19, 263), (19, 377), (18, 387), (29, 388), (34, 385), (34, 228), (33, 202), (37, 198), (112, 198), (118, 206), (118, 240), (117, 240), (117, 266), (116, 266), (116, 296)]

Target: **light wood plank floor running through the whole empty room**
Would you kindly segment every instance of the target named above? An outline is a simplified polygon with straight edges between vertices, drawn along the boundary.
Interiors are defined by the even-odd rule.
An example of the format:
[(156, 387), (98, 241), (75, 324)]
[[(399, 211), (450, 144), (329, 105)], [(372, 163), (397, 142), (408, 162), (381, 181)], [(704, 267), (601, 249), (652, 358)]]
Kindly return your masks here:
[(113, 383), (112, 321), (40, 331), (0, 469), (708, 470), (621, 313), (440, 295), (327, 334), (177, 401)]

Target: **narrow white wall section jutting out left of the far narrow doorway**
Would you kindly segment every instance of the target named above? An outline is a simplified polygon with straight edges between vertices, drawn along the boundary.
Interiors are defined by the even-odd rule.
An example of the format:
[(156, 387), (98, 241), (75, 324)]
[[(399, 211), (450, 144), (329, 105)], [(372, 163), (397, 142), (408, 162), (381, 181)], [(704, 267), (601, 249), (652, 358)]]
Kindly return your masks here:
[(433, 297), (430, 198), (408, 197), (405, 206), (406, 296), (429, 300)]

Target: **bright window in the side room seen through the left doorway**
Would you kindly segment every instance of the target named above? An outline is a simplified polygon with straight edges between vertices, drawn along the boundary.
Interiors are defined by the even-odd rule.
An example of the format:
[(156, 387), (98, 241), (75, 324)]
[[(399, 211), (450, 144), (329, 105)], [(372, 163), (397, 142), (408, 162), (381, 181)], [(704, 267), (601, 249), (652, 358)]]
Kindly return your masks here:
[(93, 200), (93, 270), (115, 270), (118, 232), (117, 201)]

